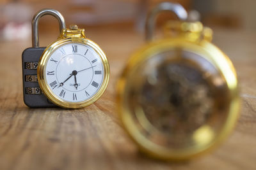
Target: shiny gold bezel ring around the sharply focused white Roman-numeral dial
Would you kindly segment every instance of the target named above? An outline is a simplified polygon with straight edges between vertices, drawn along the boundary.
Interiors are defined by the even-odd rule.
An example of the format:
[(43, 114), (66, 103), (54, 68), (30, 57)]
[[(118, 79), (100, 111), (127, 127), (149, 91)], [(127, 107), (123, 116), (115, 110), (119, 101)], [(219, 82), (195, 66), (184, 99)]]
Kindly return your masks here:
[[(80, 43), (83, 45), (88, 45), (91, 48), (93, 48), (93, 50), (95, 50), (95, 52), (97, 52), (98, 55), (100, 56), (100, 59), (102, 60), (102, 65), (104, 67), (104, 77), (102, 80), (102, 85), (99, 88), (99, 90), (96, 92), (96, 94), (90, 97), (90, 99), (86, 99), (85, 101), (79, 101), (76, 103), (65, 101), (60, 97), (56, 96), (56, 94), (52, 92), (51, 88), (49, 87), (45, 79), (45, 67), (46, 67), (47, 61), (51, 57), (51, 53), (54, 52), (56, 49), (60, 48), (60, 46), (67, 45), (70, 43)], [(88, 38), (68, 37), (64, 39), (59, 39), (51, 43), (49, 46), (47, 46), (47, 48), (45, 48), (38, 62), (37, 77), (38, 77), (38, 83), (40, 85), (40, 88), (42, 89), (42, 92), (50, 101), (52, 101), (52, 103), (62, 108), (83, 108), (97, 101), (100, 98), (100, 96), (102, 96), (102, 94), (105, 92), (106, 88), (108, 87), (109, 63), (105, 53), (101, 50), (99, 45), (94, 43), (92, 40)]]

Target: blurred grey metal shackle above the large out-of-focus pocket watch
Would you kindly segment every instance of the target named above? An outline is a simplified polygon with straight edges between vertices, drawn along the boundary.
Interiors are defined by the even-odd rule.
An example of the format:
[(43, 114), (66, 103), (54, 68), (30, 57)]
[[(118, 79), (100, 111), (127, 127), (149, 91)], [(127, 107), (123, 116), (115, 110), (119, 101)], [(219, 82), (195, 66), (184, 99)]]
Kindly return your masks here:
[(188, 13), (187, 11), (177, 3), (164, 2), (159, 3), (148, 15), (146, 22), (146, 40), (151, 41), (153, 39), (154, 29), (156, 27), (156, 17), (157, 14), (163, 11), (172, 11), (177, 15), (180, 20), (187, 20)]

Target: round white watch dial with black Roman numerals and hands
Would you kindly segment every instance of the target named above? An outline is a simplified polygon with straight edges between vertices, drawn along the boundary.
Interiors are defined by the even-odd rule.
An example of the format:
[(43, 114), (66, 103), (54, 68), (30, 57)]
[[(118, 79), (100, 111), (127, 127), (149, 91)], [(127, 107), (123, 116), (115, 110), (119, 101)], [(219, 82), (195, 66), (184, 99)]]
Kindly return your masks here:
[(77, 103), (99, 91), (105, 73), (100, 55), (91, 46), (67, 43), (49, 56), (44, 74), (55, 96)]

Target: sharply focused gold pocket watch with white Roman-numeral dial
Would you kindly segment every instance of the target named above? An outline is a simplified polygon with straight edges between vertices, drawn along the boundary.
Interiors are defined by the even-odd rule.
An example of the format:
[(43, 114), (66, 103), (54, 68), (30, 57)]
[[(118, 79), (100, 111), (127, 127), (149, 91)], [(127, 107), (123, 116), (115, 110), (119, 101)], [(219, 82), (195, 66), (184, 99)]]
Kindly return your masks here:
[[(36, 22), (49, 12), (52, 15), (52, 10), (40, 11)], [(106, 90), (108, 59), (96, 43), (86, 38), (84, 29), (71, 25), (45, 48), (38, 62), (37, 77), (43, 94), (52, 103), (63, 108), (82, 108), (97, 101)]]

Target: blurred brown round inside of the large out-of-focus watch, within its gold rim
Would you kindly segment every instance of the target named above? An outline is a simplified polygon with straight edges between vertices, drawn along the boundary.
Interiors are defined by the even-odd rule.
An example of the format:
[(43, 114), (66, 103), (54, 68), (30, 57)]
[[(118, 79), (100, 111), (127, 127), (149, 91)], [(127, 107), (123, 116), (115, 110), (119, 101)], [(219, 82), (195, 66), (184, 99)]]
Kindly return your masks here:
[[(172, 150), (209, 145), (225, 127), (230, 96), (221, 73), (185, 50), (157, 53), (129, 73), (125, 108), (145, 139)], [(202, 139), (203, 137), (204, 139)]]

